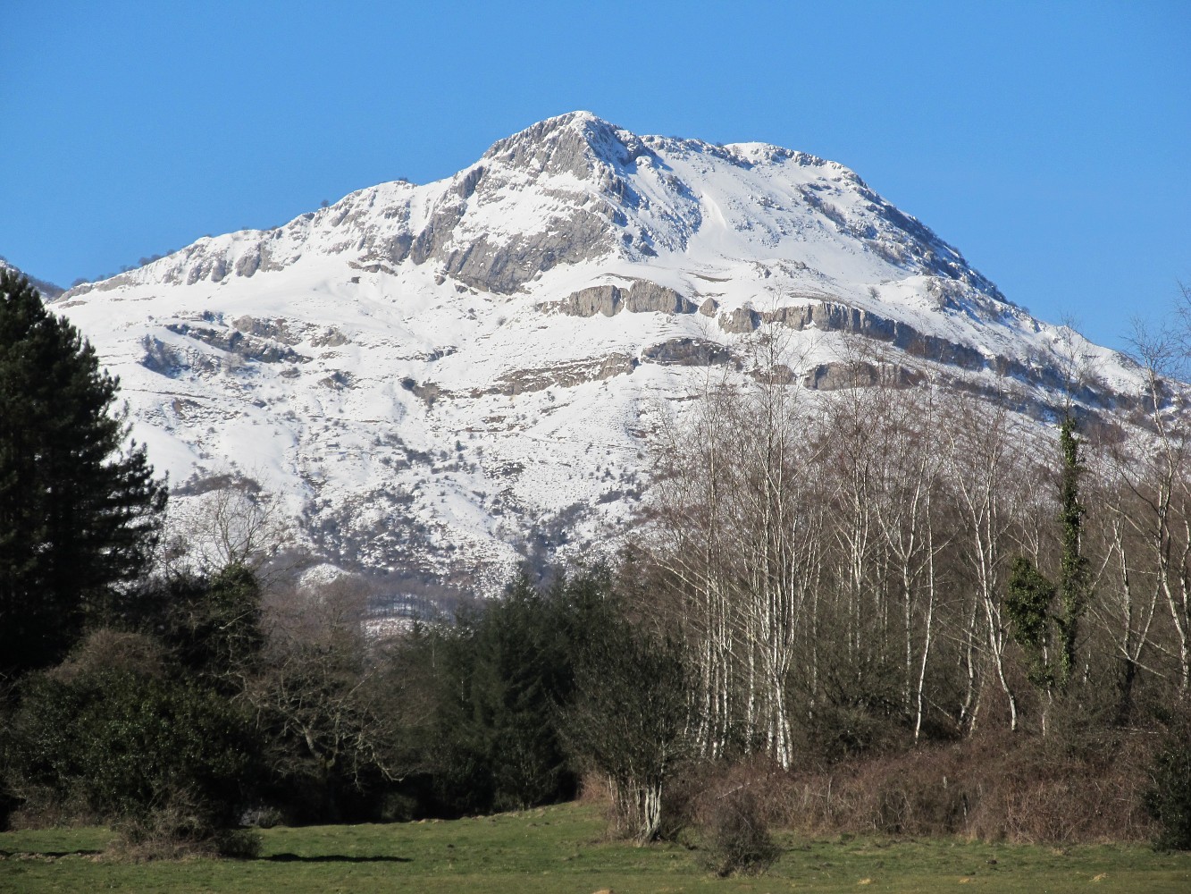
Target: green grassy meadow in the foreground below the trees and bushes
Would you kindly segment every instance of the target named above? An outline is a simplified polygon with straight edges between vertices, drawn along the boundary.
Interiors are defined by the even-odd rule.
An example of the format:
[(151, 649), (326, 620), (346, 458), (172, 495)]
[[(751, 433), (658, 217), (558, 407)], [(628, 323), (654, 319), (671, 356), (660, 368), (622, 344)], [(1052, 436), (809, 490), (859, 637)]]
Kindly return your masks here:
[[(565, 805), (453, 822), (273, 828), (252, 861), (114, 863), (104, 830), (0, 833), (0, 892), (1185, 892), (1191, 855), (1139, 846), (805, 840), (757, 879), (715, 879), (698, 851), (603, 840), (597, 809)], [(964, 886), (964, 887), (959, 887)]]

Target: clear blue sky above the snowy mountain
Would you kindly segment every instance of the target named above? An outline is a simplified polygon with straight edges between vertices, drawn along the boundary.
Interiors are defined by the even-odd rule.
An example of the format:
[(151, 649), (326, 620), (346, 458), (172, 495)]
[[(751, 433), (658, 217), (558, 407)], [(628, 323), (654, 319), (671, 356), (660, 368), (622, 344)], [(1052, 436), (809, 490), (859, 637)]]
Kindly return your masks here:
[(1112, 346), (1191, 281), (1186, 0), (0, 0), (0, 255), (67, 285), (575, 108), (840, 161)]

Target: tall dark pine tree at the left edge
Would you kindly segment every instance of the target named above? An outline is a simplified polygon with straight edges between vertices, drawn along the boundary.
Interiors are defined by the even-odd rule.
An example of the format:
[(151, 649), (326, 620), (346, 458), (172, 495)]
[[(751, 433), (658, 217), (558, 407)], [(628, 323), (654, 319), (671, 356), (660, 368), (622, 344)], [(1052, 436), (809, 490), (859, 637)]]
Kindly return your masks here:
[(167, 493), (118, 389), (25, 277), (0, 273), (0, 673), (62, 658), (148, 565)]

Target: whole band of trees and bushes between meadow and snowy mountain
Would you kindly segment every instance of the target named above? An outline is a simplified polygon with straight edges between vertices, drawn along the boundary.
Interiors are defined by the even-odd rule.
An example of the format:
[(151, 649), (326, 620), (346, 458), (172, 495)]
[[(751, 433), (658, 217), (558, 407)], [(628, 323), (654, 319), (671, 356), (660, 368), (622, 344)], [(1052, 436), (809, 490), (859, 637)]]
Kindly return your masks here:
[[(379, 626), (363, 582), (299, 585), (254, 495), (205, 520), (220, 548), (200, 561), (145, 551), (82, 590), (8, 538), (0, 621), (38, 639), (0, 662), (0, 818), (244, 853), (244, 824), (586, 786), (619, 834), (697, 832), (723, 871), (772, 859), (771, 824), (1189, 848), (1191, 432), (1166, 377), (1189, 331), (1139, 339), (1148, 410), (1128, 418), (1040, 423), (929, 380), (709, 383), (651, 435), (615, 558), (449, 615)], [(1072, 391), (1085, 373), (1073, 356)]]

